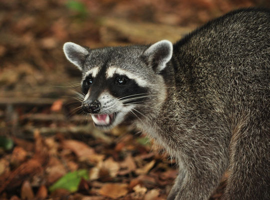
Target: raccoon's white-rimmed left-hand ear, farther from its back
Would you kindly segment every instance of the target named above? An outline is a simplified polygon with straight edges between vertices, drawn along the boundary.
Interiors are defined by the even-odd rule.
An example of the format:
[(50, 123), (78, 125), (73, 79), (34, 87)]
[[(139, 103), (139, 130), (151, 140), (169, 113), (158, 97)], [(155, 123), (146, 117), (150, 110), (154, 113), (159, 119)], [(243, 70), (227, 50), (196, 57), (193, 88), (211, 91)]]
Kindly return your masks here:
[(66, 58), (75, 64), (79, 70), (82, 70), (84, 59), (89, 54), (88, 50), (73, 42), (65, 42), (63, 51)]

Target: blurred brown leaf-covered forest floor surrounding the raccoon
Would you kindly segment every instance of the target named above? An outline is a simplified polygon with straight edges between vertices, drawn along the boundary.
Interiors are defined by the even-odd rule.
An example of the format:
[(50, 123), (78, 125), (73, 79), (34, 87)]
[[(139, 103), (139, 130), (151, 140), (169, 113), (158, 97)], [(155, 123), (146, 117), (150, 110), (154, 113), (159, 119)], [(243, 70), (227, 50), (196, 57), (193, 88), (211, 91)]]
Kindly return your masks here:
[(74, 99), (80, 72), (62, 45), (174, 42), (249, 6), (270, 1), (0, 0), (0, 199), (165, 199), (175, 162), (129, 127), (92, 126)]

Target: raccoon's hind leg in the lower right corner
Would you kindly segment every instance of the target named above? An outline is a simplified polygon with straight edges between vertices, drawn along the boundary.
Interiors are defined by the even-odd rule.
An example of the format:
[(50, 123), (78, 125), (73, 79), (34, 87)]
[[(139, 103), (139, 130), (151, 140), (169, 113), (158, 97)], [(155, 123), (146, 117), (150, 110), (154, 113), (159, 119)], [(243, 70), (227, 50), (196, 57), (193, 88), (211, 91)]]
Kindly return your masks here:
[(223, 200), (270, 199), (269, 118), (254, 125), (255, 120), (248, 121), (232, 137)]

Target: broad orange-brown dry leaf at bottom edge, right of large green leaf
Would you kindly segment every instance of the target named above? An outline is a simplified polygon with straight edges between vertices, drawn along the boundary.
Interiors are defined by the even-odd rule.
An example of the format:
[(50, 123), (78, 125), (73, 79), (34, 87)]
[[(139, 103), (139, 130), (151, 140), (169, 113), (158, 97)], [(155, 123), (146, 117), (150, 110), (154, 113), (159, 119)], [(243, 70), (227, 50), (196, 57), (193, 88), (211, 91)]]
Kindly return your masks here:
[(104, 184), (98, 192), (101, 195), (108, 196), (113, 199), (117, 199), (120, 196), (127, 194), (127, 184), (125, 183), (107, 183)]

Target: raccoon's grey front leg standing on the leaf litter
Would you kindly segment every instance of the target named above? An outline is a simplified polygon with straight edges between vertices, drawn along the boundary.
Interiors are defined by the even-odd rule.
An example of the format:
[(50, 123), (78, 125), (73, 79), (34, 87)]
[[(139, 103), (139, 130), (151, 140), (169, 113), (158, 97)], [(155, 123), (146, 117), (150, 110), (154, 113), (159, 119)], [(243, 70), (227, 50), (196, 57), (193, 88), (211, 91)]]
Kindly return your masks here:
[(217, 187), (228, 163), (226, 148), (196, 147), (190, 149), (168, 200), (207, 200)]

